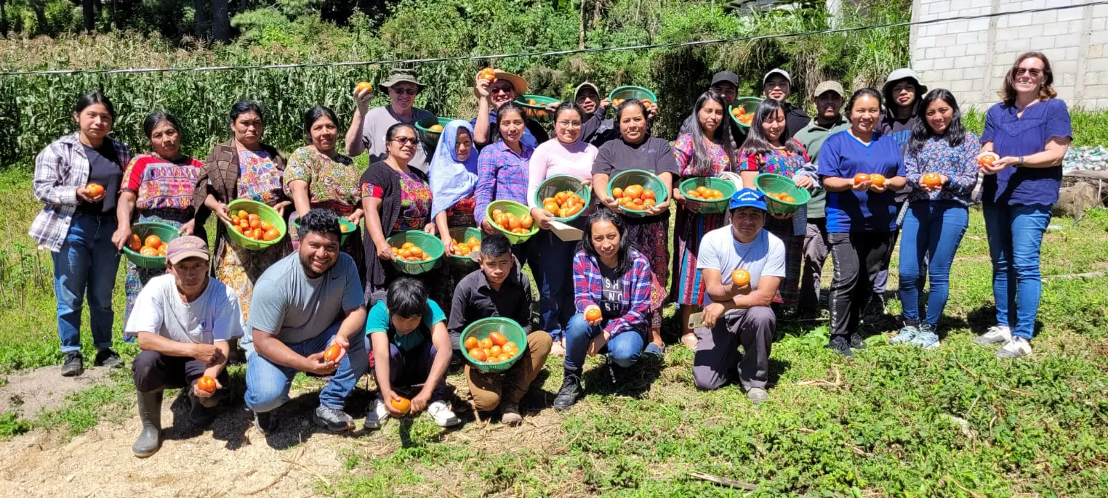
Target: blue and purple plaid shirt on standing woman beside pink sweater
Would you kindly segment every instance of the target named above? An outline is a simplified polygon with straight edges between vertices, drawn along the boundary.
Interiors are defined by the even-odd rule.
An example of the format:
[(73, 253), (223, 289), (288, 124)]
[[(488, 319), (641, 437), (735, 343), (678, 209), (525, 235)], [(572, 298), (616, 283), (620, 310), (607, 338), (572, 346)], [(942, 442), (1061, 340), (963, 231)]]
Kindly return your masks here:
[(473, 196), (476, 208), (473, 218), (478, 226), (484, 219), (485, 208), (493, 200), (514, 200), (527, 206), (527, 163), (534, 147), (520, 144), (522, 154), (515, 154), (504, 141), (496, 141), (481, 149), (478, 157), (478, 186)]

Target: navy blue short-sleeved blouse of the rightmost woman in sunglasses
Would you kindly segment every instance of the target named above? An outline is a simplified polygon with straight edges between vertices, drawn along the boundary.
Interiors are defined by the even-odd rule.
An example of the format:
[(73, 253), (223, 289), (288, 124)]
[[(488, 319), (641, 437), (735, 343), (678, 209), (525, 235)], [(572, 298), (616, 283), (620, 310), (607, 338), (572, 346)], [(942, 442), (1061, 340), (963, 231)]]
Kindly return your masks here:
[[(1046, 149), (1054, 137), (1073, 136), (1069, 111), (1057, 98), (1032, 104), (1024, 108), (1024, 116), (1004, 103), (994, 104), (985, 115), (985, 132), (981, 143), (993, 143), (993, 152), (1001, 157), (1019, 157)], [(1058, 201), (1061, 188), (1061, 166), (1049, 168), (1007, 167), (996, 175), (985, 175), (982, 200), (989, 204), (1051, 206)]]

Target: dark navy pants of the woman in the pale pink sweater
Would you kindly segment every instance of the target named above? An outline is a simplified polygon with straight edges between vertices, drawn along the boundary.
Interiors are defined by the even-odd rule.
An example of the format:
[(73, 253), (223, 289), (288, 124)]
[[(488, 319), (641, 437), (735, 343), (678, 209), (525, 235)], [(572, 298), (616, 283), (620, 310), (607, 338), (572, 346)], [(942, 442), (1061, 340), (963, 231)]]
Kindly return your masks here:
[(573, 256), (577, 242), (565, 242), (551, 230), (527, 241), (531, 273), (538, 287), (538, 330), (560, 339), (576, 311), (573, 304)]

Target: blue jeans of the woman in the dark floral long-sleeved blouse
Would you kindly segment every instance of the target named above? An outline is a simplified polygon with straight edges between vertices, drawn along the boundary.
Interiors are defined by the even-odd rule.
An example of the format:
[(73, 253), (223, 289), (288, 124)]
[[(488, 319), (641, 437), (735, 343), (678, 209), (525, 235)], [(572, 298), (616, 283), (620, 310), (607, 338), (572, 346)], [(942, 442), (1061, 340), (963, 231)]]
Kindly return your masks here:
[[(951, 291), (951, 263), (970, 225), (970, 209), (953, 200), (909, 205), (901, 228), (900, 295), (904, 323), (920, 323), (920, 292), (931, 280), (925, 322), (937, 325)], [(929, 261), (930, 259), (930, 261)], [(920, 274), (926, 268), (927, 274)]]

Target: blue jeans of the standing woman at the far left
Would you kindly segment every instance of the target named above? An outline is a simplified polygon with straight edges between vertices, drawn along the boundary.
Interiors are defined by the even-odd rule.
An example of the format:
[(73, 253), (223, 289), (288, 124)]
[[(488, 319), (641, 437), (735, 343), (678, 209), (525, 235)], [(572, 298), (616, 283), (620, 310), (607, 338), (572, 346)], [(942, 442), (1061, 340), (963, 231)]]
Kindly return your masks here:
[(58, 338), (62, 352), (81, 351), (82, 297), (89, 297), (89, 322), (96, 347), (112, 346), (112, 290), (120, 269), (120, 251), (112, 243), (114, 216), (73, 215), (54, 261), (58, 298)]

